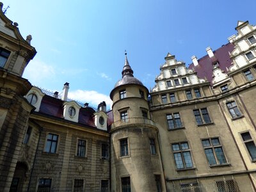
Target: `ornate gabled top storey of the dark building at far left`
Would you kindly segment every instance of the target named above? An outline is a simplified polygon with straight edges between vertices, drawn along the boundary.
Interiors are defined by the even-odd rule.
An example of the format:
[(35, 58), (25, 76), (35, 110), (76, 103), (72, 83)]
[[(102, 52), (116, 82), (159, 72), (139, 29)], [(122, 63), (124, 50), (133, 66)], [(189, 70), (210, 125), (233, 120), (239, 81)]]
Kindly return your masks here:
[(0, 3), (0, 68), (22, 76), (26, 65), (36, 54), (30, 45), (31, 35), (22, 38), (17, 22), (12, 22), (3, 13), (3, 3)]

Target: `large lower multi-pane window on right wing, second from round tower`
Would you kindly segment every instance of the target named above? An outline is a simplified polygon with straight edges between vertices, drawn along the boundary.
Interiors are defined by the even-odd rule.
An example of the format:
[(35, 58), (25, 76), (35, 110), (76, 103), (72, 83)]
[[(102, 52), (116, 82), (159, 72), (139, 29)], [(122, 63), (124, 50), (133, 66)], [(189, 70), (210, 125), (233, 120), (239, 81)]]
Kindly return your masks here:
[(220, 140), (218, 138), (202, 140), (202, 145), (210, 166), (227, 163)]

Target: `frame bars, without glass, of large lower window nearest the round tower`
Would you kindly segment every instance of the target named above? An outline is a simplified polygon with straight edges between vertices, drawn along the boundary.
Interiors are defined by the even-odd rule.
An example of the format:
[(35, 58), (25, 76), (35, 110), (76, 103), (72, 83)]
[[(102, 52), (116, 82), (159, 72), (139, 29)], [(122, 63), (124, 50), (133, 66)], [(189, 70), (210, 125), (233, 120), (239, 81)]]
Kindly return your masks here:
[[(188, 148), (184, 148), (182, 149), (182, 144), (187, 144)], [(179, 145), (179, 150), (174, 150), (173, 146), (174, 145)], [(192, 152), (191, 152), (191, 148), (189, 148), (189, 142), (188, 141), (180, 141), (180, 142), (176, 142), (176, 143), (172, 143), (171, 144), (171, 148), (172, 148), (172, 153), (173, 153), (173, 160), (175, 162), (175, 166), (176, 166), (176, 170), (187, 170), (187, 169), (193, 169), (195, 168), (195, 164), (193, 162), (193, 157), (192, 157)], [(188, 153), (190, 156), (190, 163), (192, 164), (192, 166), (188, 166), (187, 162), (186, 162), (186, 158), (184, 156), (185, 153)], [(178, 168), (178, 164), (177, 164), (177, 160), (175, 157), (175, 154), (180, 154), (179, 157), (181, 157), (181, 161), (182, 161), (182, 168)], [(187, 156), (186, 156), (187, 157)]]

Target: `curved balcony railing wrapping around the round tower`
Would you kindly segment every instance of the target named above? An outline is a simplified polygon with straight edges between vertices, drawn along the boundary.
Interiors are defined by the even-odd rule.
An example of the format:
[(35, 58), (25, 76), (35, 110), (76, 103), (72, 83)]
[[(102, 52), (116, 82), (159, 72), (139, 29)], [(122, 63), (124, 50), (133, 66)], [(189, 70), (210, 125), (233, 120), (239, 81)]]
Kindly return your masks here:
[(140, 118), (140, 117), (134, 117), (134, 118), (125, 118), (122, 120), (118, 120), (116, 122), (114, 122), (111, 125), (111, 129), (115, 129), (116, 127), (121, 127), (121, 126), (125, 126), (125, 125), (135, 125), (135, 124), (141, 124), (141, 125), (152, 125), (154, 127), (156, 127), (156, 124), (148, 119), (148, 118)]

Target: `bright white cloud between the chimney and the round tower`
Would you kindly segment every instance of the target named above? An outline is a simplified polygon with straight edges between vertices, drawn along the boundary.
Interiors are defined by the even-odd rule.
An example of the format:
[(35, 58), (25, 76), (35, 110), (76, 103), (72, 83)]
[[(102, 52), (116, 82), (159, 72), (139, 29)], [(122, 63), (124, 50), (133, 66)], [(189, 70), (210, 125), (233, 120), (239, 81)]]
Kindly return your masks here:
[(112, 100), (108, 95), (104, 95), (93, 90), (76, 90), (73, 92), (68, 92), (68, 98), (84, 103), (88, 102), (90, 106), (95, 107), (97, 107), (100, 102), (105, 101), (107, 104), (107, 109), (112, 107)]

